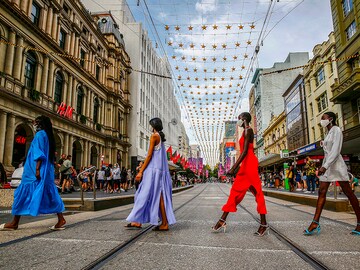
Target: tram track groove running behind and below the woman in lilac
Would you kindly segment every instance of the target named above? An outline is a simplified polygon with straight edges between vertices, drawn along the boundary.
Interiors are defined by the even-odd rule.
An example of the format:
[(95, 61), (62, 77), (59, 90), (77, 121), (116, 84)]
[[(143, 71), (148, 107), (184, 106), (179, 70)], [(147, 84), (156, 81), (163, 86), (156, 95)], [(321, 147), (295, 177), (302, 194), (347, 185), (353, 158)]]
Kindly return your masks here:
[[(200, 194), (202, 194), (205, 191), (206, 188), (207, 188), (207, 185), (198, 194), (196, 194), (194, 197), (192, 197), (190, 200), (188, 200), (187, 202), (181, 204), (179, 207), (174, 209), (174, 212), (176, 213), (181, 208), (183, 208), (185, 205), (192, 202)], [(89, 263), (88, 265), (86, 265), (85, 267), (83, 267), (81, 269), (82, 270), (100, 269), (102, 266), (106, 265), (109, 261), (111, 261), (113, 258), (118, 256), (121, 252), (123, 252), (126, 248), (128, 248), (129, 246), (134, 244), (141, 236), (143, 236), (143, 235), (147, 234), (148, 232), (150, 232), (154, 227), (155, 227), (154, 225), (148, 225), (147, 227), (145, 227), (144, 229), (139, 231), (139, 233), (137, 233), (136, 235), (134, 235), (130, 239), (126, 240), (124, 243), (117, 245), (116, 247), (109, 250), (108, 252), (103, 254), (101, 257), (99, 257), (98, 259), (92, 261), (91, 263)]]

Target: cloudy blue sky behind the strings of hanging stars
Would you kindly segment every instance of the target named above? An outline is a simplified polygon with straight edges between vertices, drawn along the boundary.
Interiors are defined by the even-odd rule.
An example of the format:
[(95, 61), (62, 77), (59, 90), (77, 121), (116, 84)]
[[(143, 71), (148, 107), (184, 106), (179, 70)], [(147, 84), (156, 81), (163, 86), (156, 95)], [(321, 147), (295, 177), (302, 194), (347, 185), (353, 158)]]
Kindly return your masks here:
[[(116, 10), (118, 1), (96, 2), (104, 10)], [(333, 28), (329, 0), (145, 2), (128, 4), (159, 54), (167, 54), (190, 141), (200, 143), (210, 163), (218, 159), (224, 121), (248, 110), (252, 71), (284, 61), (289, 52), (312, 55)], [(260, 52), (251, 61), (258, 42)]]

